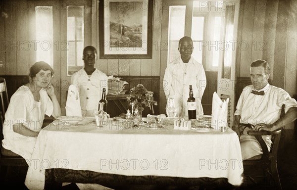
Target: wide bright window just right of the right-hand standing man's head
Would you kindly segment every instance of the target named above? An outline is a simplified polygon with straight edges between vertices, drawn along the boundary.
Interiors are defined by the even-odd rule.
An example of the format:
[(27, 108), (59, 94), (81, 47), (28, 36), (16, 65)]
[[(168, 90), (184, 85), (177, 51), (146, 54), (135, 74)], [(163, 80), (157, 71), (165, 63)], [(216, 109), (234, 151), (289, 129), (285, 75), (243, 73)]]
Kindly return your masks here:
[(224, 40), (226, 10), (226, 2), (223, 0), (193, 2), (192, 55), (203, 64), (205, 70), (217, 70), (224, 56), (220, 43)]

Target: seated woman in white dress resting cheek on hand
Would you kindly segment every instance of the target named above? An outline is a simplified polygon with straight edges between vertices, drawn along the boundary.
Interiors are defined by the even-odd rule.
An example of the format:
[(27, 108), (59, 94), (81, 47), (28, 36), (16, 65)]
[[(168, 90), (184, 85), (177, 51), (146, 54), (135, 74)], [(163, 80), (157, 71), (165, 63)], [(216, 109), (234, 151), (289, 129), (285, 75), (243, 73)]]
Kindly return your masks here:
[(44, 61), (30, 68), (30, 83), (21, 86), (10, 98), (3, 124), (2, 146), (28, 162), (45, 118), (60, 116), (61, 108), (50, 84), (53, 69)]

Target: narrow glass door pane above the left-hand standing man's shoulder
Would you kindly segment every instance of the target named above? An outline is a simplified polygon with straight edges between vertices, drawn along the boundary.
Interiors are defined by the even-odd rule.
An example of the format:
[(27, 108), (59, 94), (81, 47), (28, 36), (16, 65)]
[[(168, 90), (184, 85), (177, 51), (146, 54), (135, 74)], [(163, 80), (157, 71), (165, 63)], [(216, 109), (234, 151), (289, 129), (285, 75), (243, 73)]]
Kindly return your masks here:
[(84, 66), (84, 6), (67, 6), (67, 74), (72, 75)]

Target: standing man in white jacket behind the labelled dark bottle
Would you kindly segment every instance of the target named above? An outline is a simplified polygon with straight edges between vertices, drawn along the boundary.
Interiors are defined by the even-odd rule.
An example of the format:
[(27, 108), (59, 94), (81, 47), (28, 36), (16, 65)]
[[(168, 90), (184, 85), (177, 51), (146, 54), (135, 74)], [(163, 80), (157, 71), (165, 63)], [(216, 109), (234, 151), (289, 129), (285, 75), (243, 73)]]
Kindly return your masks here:
[(165, 70), (163, 90), (167, 100), (169, 97), (174, 98), (178, 117), (188, 117), (189, 85), (192, 85), (196, 98), (196, 113), (203, 115), (201, 98), (206, 87), (206, 76), (202, 64), (191, 56), (193, 48), (193, 41), (190, 37), (181, 38), (178, 44), (181, 56), (169, 63)]

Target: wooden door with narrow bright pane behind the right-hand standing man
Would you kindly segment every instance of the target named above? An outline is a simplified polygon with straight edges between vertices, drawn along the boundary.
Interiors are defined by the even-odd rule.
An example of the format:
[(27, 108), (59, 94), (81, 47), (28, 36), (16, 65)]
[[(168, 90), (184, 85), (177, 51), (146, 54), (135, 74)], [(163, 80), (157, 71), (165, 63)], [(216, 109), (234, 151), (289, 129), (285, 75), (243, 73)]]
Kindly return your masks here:
[[(178, 40), (184, 36), (191, 36), (193, 0), (163, 0), (160, 8), (163, 11), (160, 80), (163, 80), (168, 63), (174, 59), (174, 56), (180, 55), (178, 51)], [(177, 22), (176, 19), (181, 20)], [(173, 32), (177, 32), (177, 28), (175, 28), (174, 25), (177, 25), (178, 28), (182, 30), (179, 33), (180, 35), (172, 34)], [(173, 29), (173, 27), (175, 29)], [(167, 100), (163, 92), (165, 85), (166, 81), (160, 84), (160, 113), (166, 113), (165, 108)]]

